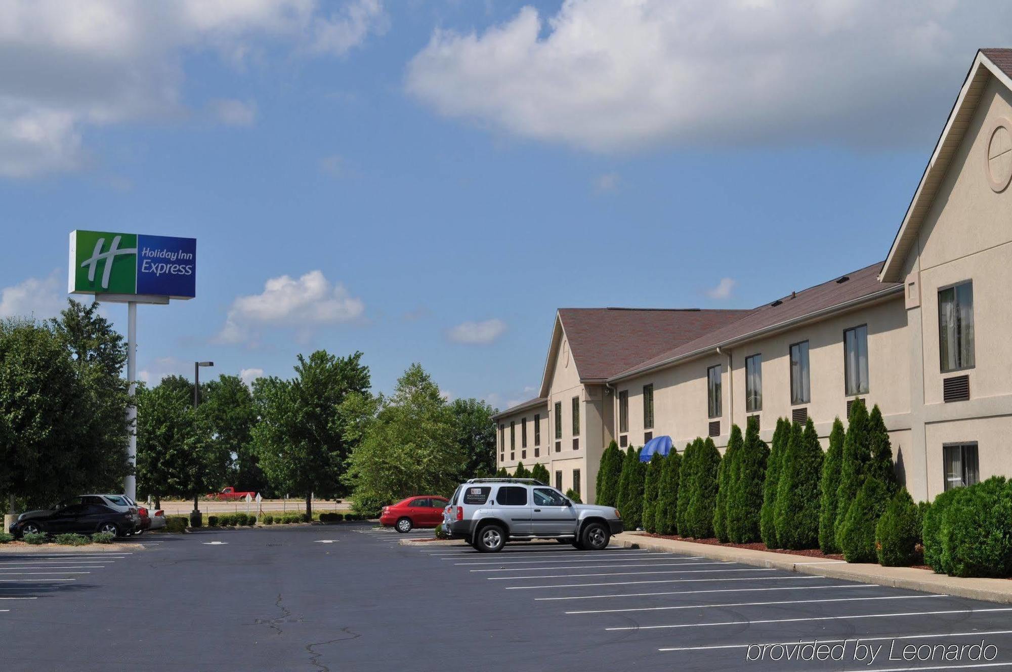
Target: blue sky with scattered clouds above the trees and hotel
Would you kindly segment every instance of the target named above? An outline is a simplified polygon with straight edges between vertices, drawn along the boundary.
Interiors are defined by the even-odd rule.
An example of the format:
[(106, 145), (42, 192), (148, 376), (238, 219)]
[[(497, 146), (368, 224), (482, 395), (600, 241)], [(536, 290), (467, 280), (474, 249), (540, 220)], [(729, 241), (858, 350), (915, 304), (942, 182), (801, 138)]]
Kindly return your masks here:
[(0, 2), (0, 314), (58, 310), (73, 229), (191, 236), (149, 380), (361, 350), (377, 391), (419, 361), (502, 408), (558, 307), (881, 260), (975, 50), (1012, 44), (986, 3), (525, 4)]

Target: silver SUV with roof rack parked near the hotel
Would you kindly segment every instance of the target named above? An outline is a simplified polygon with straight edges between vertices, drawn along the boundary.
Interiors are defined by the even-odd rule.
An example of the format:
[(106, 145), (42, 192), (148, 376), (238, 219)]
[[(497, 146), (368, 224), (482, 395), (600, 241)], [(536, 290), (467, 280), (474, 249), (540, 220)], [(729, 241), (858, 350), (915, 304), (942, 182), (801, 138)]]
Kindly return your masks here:
[(534, 479), (471, 479), (443, 510), (443, 529), (484, 553), (506, 541), (558, 539), (577, 549), (601, 551), (622, 531), (618, 511), (574, 504)]

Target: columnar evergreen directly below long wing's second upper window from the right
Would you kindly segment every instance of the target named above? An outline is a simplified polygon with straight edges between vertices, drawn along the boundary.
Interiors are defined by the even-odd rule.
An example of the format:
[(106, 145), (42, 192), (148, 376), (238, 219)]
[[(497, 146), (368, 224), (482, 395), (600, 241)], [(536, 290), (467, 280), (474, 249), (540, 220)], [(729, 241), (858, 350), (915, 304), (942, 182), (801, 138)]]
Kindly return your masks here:
[(784, 549), (813, 549), (819, 543), (822, 463), (822, 445), (812, 418), (804, 431), (793, 423), (780, 466), (774, 516), (776, 538)]

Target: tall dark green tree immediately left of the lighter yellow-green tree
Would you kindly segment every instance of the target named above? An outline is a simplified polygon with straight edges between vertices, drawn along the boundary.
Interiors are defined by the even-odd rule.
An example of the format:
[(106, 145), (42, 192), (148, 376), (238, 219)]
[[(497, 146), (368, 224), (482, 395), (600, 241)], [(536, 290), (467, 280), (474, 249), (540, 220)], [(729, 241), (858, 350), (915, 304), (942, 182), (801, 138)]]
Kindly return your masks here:
[[(254, 384), (260, 422), (253, 429), (253, 441), (260, 468), (275, 492), (306, 497), (309, 517), (314, 493), (341, 492), (347, 460), (355, 447), (345, 435), (355, 422), (344, 411), (349, 404), (356, 411), (368, 406), (362, 397), (369, 388), (369, 369), (361, 357), (361, 352), (337, 357), (317, 350), (308, 358), (299, 355), (293, 380), (258, 379)], [(410, 396), (414, 383), (414, 379), (402, 377), (398, 394)], [(439, 401), (445, 409), (445, 402)]]

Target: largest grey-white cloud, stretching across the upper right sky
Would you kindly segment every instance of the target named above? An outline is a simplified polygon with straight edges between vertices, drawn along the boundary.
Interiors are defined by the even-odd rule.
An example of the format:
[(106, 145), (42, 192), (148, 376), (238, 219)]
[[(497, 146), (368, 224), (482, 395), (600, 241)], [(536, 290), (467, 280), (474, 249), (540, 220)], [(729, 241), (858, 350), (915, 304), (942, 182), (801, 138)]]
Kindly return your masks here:
[(441, 114), (594, 151), (937, 138), (1010, 3), (566, 0), (436, 29), (406, 87)]

